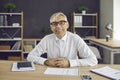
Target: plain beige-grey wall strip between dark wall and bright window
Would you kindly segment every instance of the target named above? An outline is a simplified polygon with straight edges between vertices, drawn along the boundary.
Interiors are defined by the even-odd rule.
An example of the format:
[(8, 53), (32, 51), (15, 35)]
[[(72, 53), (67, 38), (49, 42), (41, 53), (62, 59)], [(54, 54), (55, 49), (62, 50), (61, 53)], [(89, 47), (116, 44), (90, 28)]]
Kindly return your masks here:
[(105, 26), (111, 23), (113, 25), (113, 0), (100, 0), (100, 37), (105, 38), (105, 35), (111, 35), (110, 31), (105, 29)]

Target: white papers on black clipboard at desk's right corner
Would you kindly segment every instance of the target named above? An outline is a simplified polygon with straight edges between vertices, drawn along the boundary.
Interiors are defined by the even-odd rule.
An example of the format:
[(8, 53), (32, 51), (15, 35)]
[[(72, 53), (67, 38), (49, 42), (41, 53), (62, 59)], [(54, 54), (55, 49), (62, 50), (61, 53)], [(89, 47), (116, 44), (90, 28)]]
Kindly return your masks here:
[(120, 70), (110, 68), (109, 66), (105, 66), (98, 69), (91, 69), (90, 71), (111, 79), (120, 80)]

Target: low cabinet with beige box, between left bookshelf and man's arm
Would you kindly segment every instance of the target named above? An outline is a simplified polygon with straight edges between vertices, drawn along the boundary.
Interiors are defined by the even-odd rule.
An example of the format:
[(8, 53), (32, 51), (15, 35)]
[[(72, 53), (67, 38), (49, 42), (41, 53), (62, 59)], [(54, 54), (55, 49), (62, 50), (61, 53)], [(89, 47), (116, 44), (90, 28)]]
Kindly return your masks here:
[(29, 52), (40, 42), (41, 39), (23, 39), (23, 60), (26, 60)]

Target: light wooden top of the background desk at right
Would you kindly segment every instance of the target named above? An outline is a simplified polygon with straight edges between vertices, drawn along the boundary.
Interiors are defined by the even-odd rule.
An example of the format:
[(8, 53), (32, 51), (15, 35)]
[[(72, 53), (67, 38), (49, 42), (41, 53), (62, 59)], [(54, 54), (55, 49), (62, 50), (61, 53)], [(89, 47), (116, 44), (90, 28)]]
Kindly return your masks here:
[(101, 45), (104, 45), (113, 49), (120, 49), (120, 40), (110, 39), (108, 42), (106, 42), (106, 39), (90, 39), (90, 41), (99, 43)]

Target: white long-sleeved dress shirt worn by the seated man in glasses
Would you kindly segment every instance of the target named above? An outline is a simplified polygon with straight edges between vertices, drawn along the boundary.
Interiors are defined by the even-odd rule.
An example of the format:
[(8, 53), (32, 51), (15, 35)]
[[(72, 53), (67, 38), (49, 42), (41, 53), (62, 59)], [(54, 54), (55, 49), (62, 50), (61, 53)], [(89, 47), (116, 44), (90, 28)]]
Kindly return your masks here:
[[(80, 36), (67, 31), (62, 39), (56, 35), (45, 36), (38, 45), (28, 54), (27, 60), (43, 64), (47, 58), (40, 57), (47, 53), (47, 58), (67, 58), (70, 67), (73, 66), (94, 66), (98, 63), (96, 56)], [(78, 59), (77, 55), (81, 59)]]

